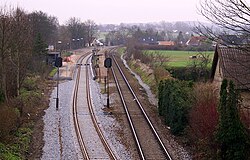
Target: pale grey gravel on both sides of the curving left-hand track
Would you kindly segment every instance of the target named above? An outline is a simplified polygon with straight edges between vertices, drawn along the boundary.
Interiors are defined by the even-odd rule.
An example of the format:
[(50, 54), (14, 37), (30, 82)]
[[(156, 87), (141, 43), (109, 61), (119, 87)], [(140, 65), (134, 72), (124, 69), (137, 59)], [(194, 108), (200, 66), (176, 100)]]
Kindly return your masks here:
[[(44, 142), (42, 160), (82, 159), (75, 136), (72, 122), (72, 94), (75, 80), (59, 84), (59, 109), (56, 110), (56, 87), (50, 97), (49, 108), (45, 111)], [(90, 79), (91, 97), (97, 121), (103, 130), (112, 150), (119, 159), (131, 159), (130, 153), (120, 143), (116, 136), (115, 128), (120, 128), (119, 123), (112, 115), (106, 114), (105, 95), (100, 94), (99, 84)], [(112, 102), (111, 102), (112, 103)]]

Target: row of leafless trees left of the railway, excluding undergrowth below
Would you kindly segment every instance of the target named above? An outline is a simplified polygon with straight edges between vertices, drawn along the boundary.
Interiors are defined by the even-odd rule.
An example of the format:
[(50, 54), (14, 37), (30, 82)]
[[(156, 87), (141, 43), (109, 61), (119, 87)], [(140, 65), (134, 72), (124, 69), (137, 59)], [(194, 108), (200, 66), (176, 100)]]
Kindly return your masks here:
[(5, 6), (0, 8), (0, 31), (0, 99), (8, 101), (20, 94), (28, 74), (46, 75), (48, 45), (61, 50), (91, 45), (97, 25), (73, 17), (60, 26), (56, 17), (42, 11)]

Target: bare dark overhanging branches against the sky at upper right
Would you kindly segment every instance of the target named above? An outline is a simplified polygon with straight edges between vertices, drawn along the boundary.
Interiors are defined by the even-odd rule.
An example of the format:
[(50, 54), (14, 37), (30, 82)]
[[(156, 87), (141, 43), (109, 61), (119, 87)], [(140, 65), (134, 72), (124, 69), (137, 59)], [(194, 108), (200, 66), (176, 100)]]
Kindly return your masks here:
[[(231, 53), (231, 56), (228, 54), (227, 61), (241, 66), (242, 70), (237, 70), (235, 73), (245, 75), (246, 78), (249, 77), (249, 72), (246, 72), (250, 70), (249, 2), (246, 0), (201, 0), (199, 11), (212, 23), (212, 26), (200, 24), (196, 27), (197, 32), (228, 48), (235, 49), (231, 52), (237, 52), (237, 54)], [(235, 73), (233, 74), (232, 69), (226, 70), (226, 72), (237, 83), (243, 86), (249, 85), (249, 83), (238, 80), (239, 77), (236, 77)]]

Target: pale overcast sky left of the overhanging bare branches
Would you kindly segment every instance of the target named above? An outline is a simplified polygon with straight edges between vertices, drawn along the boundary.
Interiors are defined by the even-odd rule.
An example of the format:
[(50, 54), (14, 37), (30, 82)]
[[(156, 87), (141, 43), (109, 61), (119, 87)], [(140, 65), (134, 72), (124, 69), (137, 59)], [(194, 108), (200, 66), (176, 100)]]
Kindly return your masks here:
[(0, 0), (28, 12), (43, 11), (65, 24), (70, 17), (97, 24), (204, 21), (198, 14), (200, 0)]

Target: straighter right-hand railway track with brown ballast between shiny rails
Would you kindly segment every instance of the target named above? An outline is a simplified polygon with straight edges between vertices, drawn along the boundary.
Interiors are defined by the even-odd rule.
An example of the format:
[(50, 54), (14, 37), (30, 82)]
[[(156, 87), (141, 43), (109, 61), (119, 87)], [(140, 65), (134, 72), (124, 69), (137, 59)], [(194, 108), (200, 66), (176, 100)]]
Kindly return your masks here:
[[(114, 49), (110, 50), (110, 53)], [(112, 55), (112, 74), (141, 159), (172, 160), (147, 113)]]

